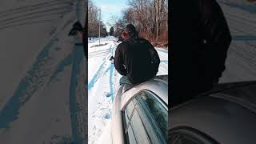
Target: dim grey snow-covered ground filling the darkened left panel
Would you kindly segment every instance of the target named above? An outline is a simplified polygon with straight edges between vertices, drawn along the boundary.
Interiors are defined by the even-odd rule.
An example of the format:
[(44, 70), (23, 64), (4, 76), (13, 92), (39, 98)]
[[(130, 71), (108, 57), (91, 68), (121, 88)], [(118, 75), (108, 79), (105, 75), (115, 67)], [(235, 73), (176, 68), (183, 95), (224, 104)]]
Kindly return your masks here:
[(83, 2), (0, 2), (0, 143), (87, 141), (86, 59), (67, 35)]

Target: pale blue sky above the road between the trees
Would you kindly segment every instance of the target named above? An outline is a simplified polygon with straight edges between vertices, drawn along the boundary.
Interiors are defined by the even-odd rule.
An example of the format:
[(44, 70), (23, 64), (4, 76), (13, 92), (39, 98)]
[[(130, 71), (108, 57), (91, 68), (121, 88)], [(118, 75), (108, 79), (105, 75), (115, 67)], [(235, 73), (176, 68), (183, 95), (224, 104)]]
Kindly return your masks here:
[(126, 9), (126, 0), (92, 0), (94, 4), (102, 10), (102, 22), (106, 25), (106, 30), (110, 31), (110, 26), (107, 25), (111, 15), (121, 17), (122, 10)]

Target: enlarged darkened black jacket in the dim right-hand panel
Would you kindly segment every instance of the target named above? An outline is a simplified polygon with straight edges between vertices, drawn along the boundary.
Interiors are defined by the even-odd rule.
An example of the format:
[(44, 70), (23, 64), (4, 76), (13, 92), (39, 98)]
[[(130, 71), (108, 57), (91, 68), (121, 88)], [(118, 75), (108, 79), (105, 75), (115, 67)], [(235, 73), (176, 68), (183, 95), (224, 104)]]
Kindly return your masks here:
[(174, 105), (218, 82), (225, 70), (231, 36), (215, 0), (170, 2), (169, 99)]

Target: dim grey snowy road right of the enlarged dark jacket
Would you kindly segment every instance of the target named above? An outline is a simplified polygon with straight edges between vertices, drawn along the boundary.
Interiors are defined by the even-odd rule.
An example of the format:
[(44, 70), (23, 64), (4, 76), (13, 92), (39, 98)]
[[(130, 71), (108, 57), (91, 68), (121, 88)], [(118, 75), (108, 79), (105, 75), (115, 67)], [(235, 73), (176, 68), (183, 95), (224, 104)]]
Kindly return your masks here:
[(218, 2), (233, 38), (220, 82), (256, 80), (256, 4), (245, 0)]

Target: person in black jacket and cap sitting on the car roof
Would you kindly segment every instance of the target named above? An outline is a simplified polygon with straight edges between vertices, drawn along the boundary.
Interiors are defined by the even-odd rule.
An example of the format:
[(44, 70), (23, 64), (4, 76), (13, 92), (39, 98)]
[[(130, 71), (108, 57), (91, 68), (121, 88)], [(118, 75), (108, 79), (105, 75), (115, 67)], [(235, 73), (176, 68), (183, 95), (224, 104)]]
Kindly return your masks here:
[(114, 67), (122, 75), (120, 84), (145, 82), (158, 73), (160, 58), (154, 46), (145, 38), (139, 38), (134, 25), (126, 26), (127, 38), (118, 45), (114, 55)]

